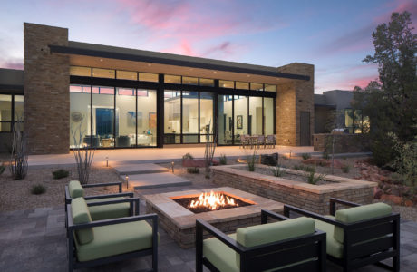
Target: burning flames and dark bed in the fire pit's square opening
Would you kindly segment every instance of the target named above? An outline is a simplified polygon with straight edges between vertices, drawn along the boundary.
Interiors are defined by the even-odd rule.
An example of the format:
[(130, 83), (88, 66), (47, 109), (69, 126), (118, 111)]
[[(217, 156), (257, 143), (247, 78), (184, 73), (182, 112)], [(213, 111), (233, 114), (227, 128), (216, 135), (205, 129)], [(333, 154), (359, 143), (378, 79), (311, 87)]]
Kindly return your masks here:
[(207, 212), (220, 209), (231, 209), (256, 204), (250, 200), (239, 199), (224, 191), (210, 191), (201, 193), (199, 197), (173, 197), (171, 198), (182, 207), (194, 213)]

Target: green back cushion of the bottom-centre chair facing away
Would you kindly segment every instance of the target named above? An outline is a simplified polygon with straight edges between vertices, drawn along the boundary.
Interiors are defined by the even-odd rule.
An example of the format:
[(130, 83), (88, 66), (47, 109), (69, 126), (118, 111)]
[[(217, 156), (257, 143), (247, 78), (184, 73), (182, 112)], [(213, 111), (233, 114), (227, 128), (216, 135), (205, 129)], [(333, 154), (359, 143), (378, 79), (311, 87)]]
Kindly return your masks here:
[[(238, 228), (236, 231), (236, 240), (242, 246), (250, 248), (288, 238), (313, 234), (314, 232), (315, 221), (300, 217), (247, 228)], [(236, 255), (236, 263), (240, 266), (240, 255), (238, 254)]]

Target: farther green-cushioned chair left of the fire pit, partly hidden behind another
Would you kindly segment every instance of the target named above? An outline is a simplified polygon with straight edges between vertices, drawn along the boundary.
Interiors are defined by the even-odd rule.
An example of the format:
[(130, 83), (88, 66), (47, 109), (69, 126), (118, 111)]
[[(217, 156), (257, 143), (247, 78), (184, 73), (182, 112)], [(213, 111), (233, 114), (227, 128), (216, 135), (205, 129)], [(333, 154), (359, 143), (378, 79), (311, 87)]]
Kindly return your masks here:
[[(106, 186), (118, 186), (119, 193), (97, 196), (84, 196), (85, 188), (92, 187), (106, 187)], [(96, 183), (81, 185), (78, 180), (71, 180), (70, 183), (65, 186), (65, 212), (67, 212), (67, 205), (71, 203), (72, 199), (84, 198), (87, 203), (96, 203), (106, 201), (107, 205), (93, 205), (89, 207), (92, 220), (104, 220), (104, 219), (116, 219), (122, 217), (128, 217), (133, 215), (139, 215), (139, 203), (136, 207), (133, 207), (136, 202), (126, 200), (126, 198), (133, 198), (132, 192), (121, 192), (121, 182), (111, 183)], [(139, 201), (138, 201), (139, 202)], [(135, 209), (136, 208), (136, 209)], [(66, 223), (66, 222), (65, 222)], [(67, 225), (66, 225), (67, 226)]]

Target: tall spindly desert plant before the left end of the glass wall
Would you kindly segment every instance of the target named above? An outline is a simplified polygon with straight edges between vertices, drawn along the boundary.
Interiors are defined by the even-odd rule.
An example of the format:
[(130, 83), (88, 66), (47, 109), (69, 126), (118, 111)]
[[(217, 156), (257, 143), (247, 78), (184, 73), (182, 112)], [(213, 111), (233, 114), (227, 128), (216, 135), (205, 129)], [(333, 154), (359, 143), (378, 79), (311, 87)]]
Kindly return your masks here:
[[(92, 167), (92, 159), (94, 158), (95, 148), (91, 149), (87, 145), (83, 145), (82, 139), (85, 135), (85, 131), (82, 131), (82, 122), (84, 116), (82, 115), (81, 121), (76, 125), (75, 130), (71, 127), (71, 134), (73, 136), (73, 156), (77, 164), (78, 180), (81, 184), (87, 184), (90, 178), (90, 170)], [(92, 146), (92, 139), (90, 139), (90, 146)]]

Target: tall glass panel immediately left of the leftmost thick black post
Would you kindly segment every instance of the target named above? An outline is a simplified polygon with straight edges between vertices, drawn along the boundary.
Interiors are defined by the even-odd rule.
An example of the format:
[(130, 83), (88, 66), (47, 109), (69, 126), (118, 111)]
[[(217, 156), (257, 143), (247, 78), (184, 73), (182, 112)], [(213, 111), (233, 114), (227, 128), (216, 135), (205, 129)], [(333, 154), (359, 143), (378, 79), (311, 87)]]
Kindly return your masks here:
[(138, 146), (156, 146), (156, 91), (138, 89)]

